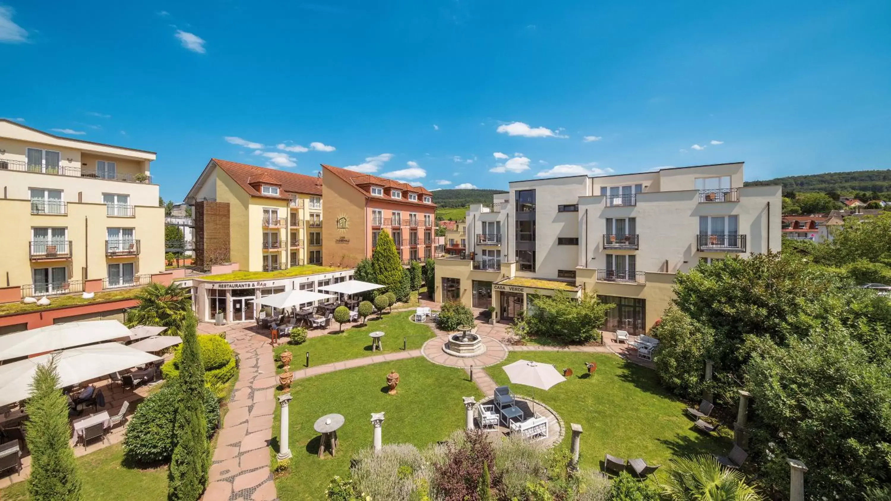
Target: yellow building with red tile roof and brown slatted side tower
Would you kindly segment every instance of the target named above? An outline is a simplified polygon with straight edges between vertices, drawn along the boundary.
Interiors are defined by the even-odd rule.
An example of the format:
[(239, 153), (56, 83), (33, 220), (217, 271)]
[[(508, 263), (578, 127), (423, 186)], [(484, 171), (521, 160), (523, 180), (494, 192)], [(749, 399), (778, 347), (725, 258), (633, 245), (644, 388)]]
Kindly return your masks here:
[(322, 263), (317, 177), (211, 159), (189, 190), (198, 265), (270, 271)]

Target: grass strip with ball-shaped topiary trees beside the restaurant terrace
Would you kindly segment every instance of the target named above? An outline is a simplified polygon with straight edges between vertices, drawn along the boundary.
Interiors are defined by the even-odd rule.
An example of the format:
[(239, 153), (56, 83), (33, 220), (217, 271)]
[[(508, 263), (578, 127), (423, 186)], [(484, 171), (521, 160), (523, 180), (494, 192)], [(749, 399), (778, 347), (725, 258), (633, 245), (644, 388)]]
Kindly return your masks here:
[(307, 342), (298, 346), (282, 344), (275, 348), (275, 357), (277, 359), (285, 349), (290, 350), (294, 354), (294, 359), (290, 363), (293, 370), (306, 366), (307, 351), (309, 352), (309, 363), (312, 366), (351, 358), (371, 357), (380, 354), (380, 351), (372, 353), (372, 338), (368, 337), (368, 334), (374, 331), (386, 333), (381, 339), (384, 353), (402, 351), (403, 338), (406, 339), (407, 349), (419, 349), (424, 341), (433, 337), (433, 331), (426, 325), (410, 321), (408, 317), (411, 315), (412, 312), (400, 311), (385, 313), (382, 319), (378, 319), (377, 314), (374, 314), (368, 317), (367, 325), (343, 324), (344, 333), (342, 334), (326, 334), (309, 338)]

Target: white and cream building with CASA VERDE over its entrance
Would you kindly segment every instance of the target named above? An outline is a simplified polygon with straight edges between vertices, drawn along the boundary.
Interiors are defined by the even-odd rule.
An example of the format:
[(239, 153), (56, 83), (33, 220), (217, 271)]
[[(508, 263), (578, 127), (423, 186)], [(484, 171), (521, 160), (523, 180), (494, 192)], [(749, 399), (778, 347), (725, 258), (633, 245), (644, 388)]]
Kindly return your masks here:
[(437, 300), (510, 321), (532, 293), (594, 292), (607, 329), (643, 333), (700, 262), (781, 248), (781, 186), (743, 187), (743, 164), (517, 181), (467, 212), (466, 259), (437, 259)]

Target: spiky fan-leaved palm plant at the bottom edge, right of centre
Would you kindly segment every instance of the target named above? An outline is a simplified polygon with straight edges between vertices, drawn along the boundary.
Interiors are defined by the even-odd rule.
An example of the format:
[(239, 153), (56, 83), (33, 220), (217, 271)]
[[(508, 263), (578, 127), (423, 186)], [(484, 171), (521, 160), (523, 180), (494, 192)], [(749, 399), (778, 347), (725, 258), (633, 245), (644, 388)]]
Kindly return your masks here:
[(671, 501), (761, 501), (739, 470), (725, 468), (712, 456), (689, 456), (669, 461), (668, 478), (659, 482)]

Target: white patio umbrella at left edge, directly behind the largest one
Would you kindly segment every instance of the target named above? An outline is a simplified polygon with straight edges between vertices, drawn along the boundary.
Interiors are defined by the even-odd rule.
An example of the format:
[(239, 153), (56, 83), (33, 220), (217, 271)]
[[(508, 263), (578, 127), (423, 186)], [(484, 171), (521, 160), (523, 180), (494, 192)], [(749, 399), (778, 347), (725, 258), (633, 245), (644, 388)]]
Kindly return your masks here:
[(0, 360), (129, 337), (129, 329), (117, 320), (47, 325), (0, 336)]

